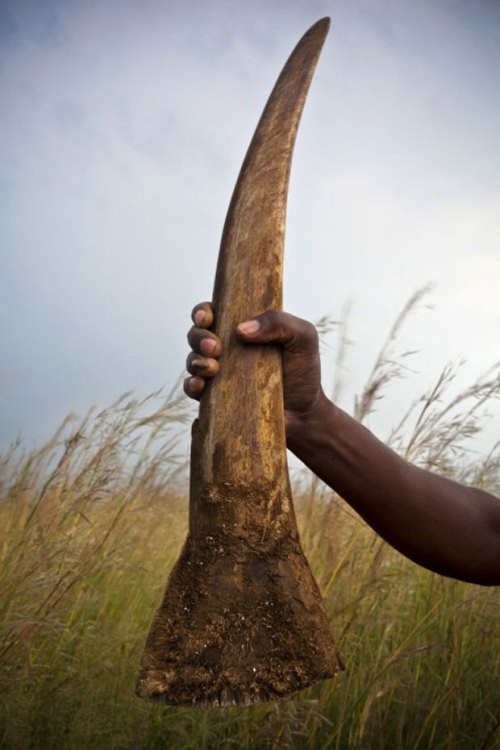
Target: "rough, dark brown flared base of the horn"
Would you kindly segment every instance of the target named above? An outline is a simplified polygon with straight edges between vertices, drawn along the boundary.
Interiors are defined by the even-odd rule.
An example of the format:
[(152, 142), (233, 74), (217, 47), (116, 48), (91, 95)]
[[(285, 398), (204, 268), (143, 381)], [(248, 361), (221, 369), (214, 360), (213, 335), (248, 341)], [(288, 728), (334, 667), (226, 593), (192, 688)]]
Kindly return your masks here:
[(298, 538), (270, 550), (188, 537), (149, 633), (137, 694), (175, 706), (285, 698), (343, 669)]

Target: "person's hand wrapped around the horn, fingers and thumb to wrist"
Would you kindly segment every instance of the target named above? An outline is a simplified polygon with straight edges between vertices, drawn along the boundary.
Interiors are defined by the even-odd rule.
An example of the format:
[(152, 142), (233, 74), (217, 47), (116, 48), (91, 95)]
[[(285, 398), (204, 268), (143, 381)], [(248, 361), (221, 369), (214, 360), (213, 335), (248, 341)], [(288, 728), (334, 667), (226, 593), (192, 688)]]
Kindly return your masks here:
[[(190, 377), (184, 391), (199, 399), (206, 380), (219, 372), (222, 352), (220, 339), (208, 328), (213, 322), (209, 302), (193, 308), (193, 326), (188, 333), (192, 349), (186, 367)], [(280, 310), (268, 310), (252, 320), (240, 323), (236, 335), (247, 344), (279, 343), (282, 345), (283, 389), (287, 430), (300, 424), (323, 396), (318, 334), (311, 323)]]

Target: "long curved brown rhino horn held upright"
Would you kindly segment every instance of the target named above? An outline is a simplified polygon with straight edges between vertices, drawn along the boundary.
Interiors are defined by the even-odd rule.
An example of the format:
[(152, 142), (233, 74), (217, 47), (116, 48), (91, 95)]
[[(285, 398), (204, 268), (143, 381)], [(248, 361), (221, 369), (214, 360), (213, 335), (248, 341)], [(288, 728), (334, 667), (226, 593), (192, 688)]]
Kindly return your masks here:
[(223, 356), (193, 425), (189, 534), (142, 657), (144, 698), (249, 704), (342, 668), (300, 547), (280, 353), (234, 336), (237, 323), (281, 307), (292, 150), (328, 27), (316, 23), (286, 63), (229, 207), (213, 296)]

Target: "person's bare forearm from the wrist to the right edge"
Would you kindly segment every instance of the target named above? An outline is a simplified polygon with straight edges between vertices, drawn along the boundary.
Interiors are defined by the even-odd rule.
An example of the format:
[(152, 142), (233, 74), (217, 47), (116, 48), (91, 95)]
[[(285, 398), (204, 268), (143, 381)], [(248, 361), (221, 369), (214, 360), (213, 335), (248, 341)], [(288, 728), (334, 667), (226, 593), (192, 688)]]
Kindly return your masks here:
[(393, 547), (430, 570), (500, 584), (500, 500), (404, 461), (322, 397), (288, 447)]

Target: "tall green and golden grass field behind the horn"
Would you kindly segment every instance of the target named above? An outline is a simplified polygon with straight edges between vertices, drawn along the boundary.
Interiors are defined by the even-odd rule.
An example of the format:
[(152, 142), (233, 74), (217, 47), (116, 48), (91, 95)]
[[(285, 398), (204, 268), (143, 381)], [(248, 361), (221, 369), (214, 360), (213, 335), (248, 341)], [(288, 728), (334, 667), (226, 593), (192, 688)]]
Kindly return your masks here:
[[(398, 376), (383, 347), (360, 419)], [(394, 369), (396, 368), (396, 369)], [(498, 491), (497, 449), (467, 441), (499, 394), (498, 369), (447, 397), (445, 368), (390, 436), (428, 468)], [(152, 416), (145, 416), (153, 411)], [(347, 665), (293, 700), (248, 709), (144, 703), (145, 635), (186, 533), (178, 390), (69, 419), (47, 445), (0, 461), (0, 746), (68, 748), (498, 748), (500, 600), (403, 559), (307, 474), (295, 480), (303, 546)]]

